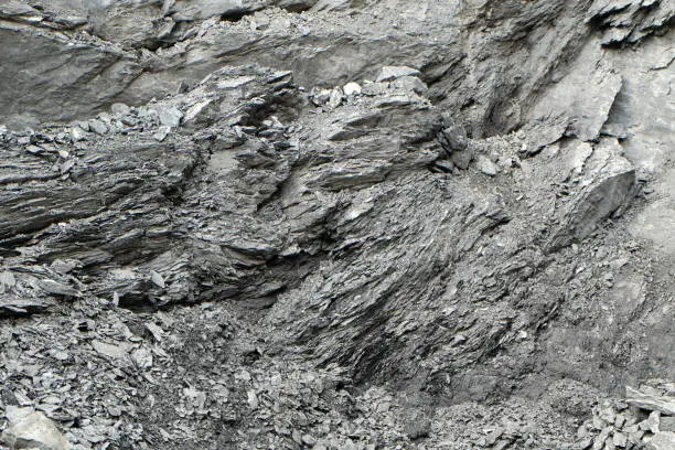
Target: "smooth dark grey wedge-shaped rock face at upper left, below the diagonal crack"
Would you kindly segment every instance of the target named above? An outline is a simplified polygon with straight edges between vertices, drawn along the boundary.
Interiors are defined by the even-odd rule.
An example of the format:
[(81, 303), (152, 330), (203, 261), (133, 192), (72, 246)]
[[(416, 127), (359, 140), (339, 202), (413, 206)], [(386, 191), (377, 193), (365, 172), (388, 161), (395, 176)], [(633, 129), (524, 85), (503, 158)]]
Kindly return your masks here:
[(0, 24), (0, 122), (33, 127), (50, 118), (90, 115), (114, 98), (141, 72), (135, 58), (113, 46), (71, 42), (32, 26)]

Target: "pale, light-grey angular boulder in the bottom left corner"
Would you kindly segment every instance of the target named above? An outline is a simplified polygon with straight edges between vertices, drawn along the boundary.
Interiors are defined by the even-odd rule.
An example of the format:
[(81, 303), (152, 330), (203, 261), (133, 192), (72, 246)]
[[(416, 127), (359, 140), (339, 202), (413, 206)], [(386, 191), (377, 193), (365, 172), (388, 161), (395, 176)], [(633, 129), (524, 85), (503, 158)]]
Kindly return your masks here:
[(52, 420), (33, 408), (8, 406), (2, 441), (13, 449), (68, 450), (69, 443)]

